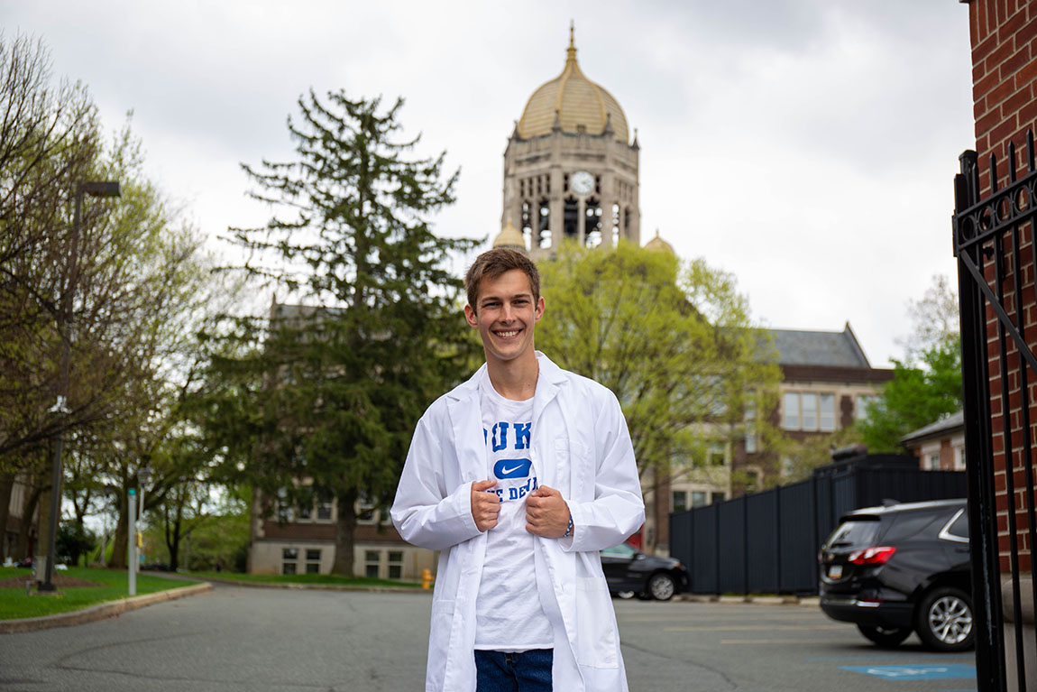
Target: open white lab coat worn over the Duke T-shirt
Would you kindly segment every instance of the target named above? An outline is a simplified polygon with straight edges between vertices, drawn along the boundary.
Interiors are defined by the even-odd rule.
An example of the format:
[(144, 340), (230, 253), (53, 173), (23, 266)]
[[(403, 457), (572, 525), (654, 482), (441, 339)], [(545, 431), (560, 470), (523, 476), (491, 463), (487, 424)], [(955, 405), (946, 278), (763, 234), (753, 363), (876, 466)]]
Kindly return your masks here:
[[(537, 352), (530, 456), (539, 485), (572, 513), (568, 538), (536, 537), (536, 582), (555, 632), (556, 692), (625, 692), (616, 616), (598, 551), (644, 523), (626, 421), (615, 395)], [(432, 594), (426, 692), (475, 692), (475, 599), (486, 534), (472, 518), (471, 486), (486, 479), (479, 381), (437, 399), (418, 421), (392, 506), (405, 541), (442, 551)]]

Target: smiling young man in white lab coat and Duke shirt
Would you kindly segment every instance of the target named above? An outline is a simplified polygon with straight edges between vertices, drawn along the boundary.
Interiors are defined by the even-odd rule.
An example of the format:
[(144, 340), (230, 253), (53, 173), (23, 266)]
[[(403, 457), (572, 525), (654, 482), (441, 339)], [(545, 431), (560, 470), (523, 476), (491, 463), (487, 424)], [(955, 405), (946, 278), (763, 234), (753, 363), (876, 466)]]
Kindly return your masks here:
[(486, 364), (418, 421), (392, 507), (442, 551), (426, 692), (625, 691), (598, 551), (644, 522), (619, 403), (536, 352), (536, 266), (481, 254), (465, 316)]

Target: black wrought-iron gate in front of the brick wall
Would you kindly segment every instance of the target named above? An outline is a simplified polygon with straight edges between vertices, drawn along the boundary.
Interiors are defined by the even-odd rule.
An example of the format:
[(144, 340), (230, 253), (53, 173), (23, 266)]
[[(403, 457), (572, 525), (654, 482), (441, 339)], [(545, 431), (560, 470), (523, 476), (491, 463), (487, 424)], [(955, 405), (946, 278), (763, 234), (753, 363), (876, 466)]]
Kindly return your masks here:
[[(983, 198), (975, 151), (961, 155), (961, 172), (954, 178), (980, 692), (1026, 690), (1027, 659), (1034, 658), (1034, 652), (1028, 655), (1020, 627), (1022, 589), (1032, 590), (1028, 596), (1037, 602), (1037, 582), (1020, 579), (1020, 573), (1032, 570), (1030, 547), (1037, 524), (1032, 425), (1037, 421), (1031, 420), (1037, 411), (1037, 357), (1031, 345), (1037, 342), (1033, 234), (1037, 169), (1032, 131), (1027, 135), (1026, 158), (1028, 172), (1017, 177), (1016, 153), (1009, 143), (1007, 161), (1000, 163), (1002, 174), (1008, 167), (1008, 184), (999, 189), (999, 162), (991, 156), (990, 189)], [(1010, 577), (1010, 588), (1005, 589), (1008, 603), (1002, 598), (1005, 577)], [(1006, 615), (1015, 624), (1007, 640)]]

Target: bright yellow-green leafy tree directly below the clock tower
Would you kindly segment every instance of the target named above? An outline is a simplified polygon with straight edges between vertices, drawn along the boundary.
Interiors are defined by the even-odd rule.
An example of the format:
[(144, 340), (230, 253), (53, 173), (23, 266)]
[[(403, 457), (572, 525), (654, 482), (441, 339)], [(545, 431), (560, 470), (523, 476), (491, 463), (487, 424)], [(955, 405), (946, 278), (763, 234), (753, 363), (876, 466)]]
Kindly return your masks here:
[[(746, 436), (747, 408), (774, 408), (774, 350), (730, 275), (627, 243), (565, 244), (540, 271), (537, 348), (616, 394), (642, 476), (701, 463)], [(772, 427), (757, 416), (751, 434), (770, 439)]]

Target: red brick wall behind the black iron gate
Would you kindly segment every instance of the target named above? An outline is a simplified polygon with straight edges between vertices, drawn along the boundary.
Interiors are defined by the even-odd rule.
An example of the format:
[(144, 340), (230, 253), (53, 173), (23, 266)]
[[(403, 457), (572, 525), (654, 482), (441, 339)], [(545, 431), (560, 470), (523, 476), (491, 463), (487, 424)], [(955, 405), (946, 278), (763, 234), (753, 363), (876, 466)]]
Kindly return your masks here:
[[(1027, 0), (973, 0), (969, 5), (969, 25), (973, 62), (973, 108), (976, 119), (976, 151), (979, 155), (981, 196), (990, 194), (990, 155), (998, 159), (999, 189), (1008, 183), (1008, 143), (1015, 144), (1017, 175), (1025, 175), (1026, 133), (1037, 126), (1037, 2)], [(1030, 204), (1037, 200), (1030, 200)], [(1025, 332), (1031, 350), (1037, 345), (1037, 308), (1034, 302), (1033, 234), (1029, 225), (1020, 229), (1020, 271), (1006, 262), (1004, 268), (1004, 307), (1013, 322), (1015, 315), (1012, 299), (1015, 280), (1019, 277), (1024, 289)], [(992, 262), (984, 268), (987, 280), (994, 283)], [(1030, 547), (1027, 544), (1026, 477), (1024, 472), (1024, 431), (1020, 397), (1019, 357), (1009, 340), (1008, 355), (1002, 373), (997, 317), (987, 310), (987, 339), (989, 343), (990, 408), (993, 413), (994, 482), (998, 497), (998, 531), (1001, 547), (1001, 568), (1009, 571), (1008, 532), (1009, 506), (1015, 510), (1018, 532), (1019, 570), (1031, 571)], [(1037, 402), (1037, 375), (1028, 373), (1031, 402)], [(1008, 389), (1008, 423), (1012, 454), (1006, 463), (1005, 411), (1002, 388)], [(1037, 406), (1030, 407), (1031, 439), (1037, 422)], [(1015, 497), (1007, 495), (1006, 469), (1011, 469), (1015, 481)]]

